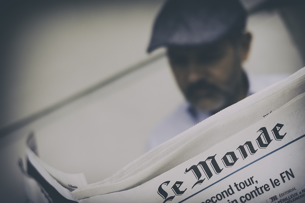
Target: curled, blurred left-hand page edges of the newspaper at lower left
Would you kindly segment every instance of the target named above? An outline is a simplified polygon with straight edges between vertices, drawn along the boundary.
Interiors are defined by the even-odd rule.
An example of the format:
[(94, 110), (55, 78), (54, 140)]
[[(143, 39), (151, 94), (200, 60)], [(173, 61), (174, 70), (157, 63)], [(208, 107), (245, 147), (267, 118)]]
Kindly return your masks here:
[(48, 166), (35, 154), (33, 135), (28, 138), (27, 144), (27, 173), (24, 174), (24, 183), (29, 201), (77, 202), (71, 191), (88, 184), (84, 173), (69, 174)]

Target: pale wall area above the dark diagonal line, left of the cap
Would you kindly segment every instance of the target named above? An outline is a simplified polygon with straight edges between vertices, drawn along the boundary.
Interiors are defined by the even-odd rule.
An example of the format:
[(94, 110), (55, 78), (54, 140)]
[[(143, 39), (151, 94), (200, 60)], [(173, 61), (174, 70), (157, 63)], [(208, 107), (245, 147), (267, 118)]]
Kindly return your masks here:
[(37, 13), (16, 27), (0, 128), (147, 57), (158, 1), (104, 1)]

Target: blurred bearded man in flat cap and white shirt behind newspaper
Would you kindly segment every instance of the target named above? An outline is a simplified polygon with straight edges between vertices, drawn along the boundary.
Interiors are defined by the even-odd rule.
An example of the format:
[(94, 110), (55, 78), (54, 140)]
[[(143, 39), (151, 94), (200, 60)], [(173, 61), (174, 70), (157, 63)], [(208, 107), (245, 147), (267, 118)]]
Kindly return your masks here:
[(169, 64), (187, 104), (149, 136), (148, 148), (178, 135), (244, 99), (243, 71), (251, 34), (238, 0), (169, 0), (156, 18), (148, 52), (167, 48)]

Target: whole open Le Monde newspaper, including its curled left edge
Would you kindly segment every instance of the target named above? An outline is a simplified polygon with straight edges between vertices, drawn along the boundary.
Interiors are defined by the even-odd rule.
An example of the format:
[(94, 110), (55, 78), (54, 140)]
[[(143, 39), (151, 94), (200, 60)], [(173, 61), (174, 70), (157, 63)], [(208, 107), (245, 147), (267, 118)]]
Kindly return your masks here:
[(214, 114), (112, 176), (87, 184), (36, 154), (32, 202), (305, 202), (305, 68)]

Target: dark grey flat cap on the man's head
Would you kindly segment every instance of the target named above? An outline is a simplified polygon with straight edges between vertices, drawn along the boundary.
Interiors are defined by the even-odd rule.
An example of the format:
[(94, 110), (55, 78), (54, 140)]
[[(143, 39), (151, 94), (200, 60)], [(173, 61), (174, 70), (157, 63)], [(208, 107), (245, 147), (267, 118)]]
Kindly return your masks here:
[(238, 0), (169, 0), (156, 17), (147, 51), (213, 43), (231, 31), (243, 30), (246, 18)]

